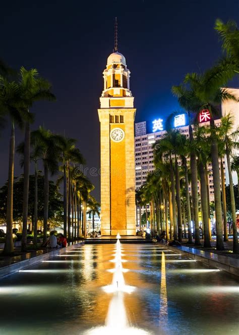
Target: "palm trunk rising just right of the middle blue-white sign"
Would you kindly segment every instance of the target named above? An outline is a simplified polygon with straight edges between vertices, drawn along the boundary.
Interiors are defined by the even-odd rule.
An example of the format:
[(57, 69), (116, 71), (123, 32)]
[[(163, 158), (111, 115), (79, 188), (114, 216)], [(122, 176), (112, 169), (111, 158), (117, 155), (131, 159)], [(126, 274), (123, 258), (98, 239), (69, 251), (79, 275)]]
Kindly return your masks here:
[[(193, 138), (192, 125), (189, 125), (189, 138), (191, 141)], [(195, 245), (200, 246), (200, 233), (199, 233), (199, 219), (198, 219), (198, 169), (197, 169), (197, 158), (194, 152), (190, 155), (190, 169), (192, 174), (192, 201), (194, 211), (194, 234), (195, 234)]]

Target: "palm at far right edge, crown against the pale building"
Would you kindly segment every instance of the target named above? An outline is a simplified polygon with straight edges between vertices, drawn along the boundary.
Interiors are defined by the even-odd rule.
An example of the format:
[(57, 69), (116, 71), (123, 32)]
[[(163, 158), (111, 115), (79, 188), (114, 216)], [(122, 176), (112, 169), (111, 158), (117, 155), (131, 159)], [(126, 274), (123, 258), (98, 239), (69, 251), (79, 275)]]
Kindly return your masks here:
[[(233, 180), (231, 172), (231, 162), (230, 157), (232, 150), (238, 148), (238, 142), (236, 139), (239, 135), (239, 127), (236, 130), (233, 130), (234, 118), (232, 115), (228, 114), (221, 118), (221, 126), (219, 128), (219, 137), (224, 143), (226, 162), (228, 168), (229, 176), (229, 188), (230, 188), (230, 202), (231, 202), (231, 216), (232, 216), (232, 229), (233, 229), (233, 253), (238, 253), (238, 238), (237, 238), (237, 229), (236, 229), (236, 216), (235, 216), (235, 199), (234, 199), (234, 190), (233, 190)], [(224, 182), (224, 180), (222, 181)]]

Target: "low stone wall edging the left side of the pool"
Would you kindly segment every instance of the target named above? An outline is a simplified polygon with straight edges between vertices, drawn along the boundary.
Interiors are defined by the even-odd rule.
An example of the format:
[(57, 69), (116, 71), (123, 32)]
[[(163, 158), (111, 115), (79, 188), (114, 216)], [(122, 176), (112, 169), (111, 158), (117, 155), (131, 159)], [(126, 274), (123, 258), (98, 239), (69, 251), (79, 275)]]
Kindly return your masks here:
[(22, 270), (24, 268), (27, 268), (31, 265), (34, 265), (34, 264), (40, 263), (42, 261), (48, 260), (50, 258), (53, 258), (57, 255), (64, 254), (67, 250), (73, 250), (74, 248), (77, 248), (77, 247), (80, 247), (80, 246), (83, 246), (83, 245), (84, 245), (84, 242), (76, 243), (76, 244), (73, 244), (73, 245), (68, 246), (66, 248), (55, 249), (53, 251), (49, 251), (48, 253), (45, 253), (45, 254), (42, 254), (42, 255), (39, 255), (39, 256), (34, 256), (34, 257), (29, 258), (29, 259), (25, 259), (23, 261), (19, 261), (19, 262), (14, 263), (14, 264), (10, 264), (8, 266), (4, 266), (4, 267), (0, 268), (0, 278), (4, 277), (4, 276), (7, 276), (9, 274), (12, 274), (14, 272), (17, 272), (19, 270)]

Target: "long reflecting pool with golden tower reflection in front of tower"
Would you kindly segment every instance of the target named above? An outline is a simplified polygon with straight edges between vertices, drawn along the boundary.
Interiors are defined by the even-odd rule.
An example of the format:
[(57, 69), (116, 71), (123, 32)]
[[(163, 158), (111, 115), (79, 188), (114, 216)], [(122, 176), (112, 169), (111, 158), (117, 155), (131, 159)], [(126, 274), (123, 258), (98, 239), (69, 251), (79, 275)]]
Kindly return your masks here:
[(1, 334), (228, 334), (236, 277), (153, 244), (85, 245), (0, 280)]

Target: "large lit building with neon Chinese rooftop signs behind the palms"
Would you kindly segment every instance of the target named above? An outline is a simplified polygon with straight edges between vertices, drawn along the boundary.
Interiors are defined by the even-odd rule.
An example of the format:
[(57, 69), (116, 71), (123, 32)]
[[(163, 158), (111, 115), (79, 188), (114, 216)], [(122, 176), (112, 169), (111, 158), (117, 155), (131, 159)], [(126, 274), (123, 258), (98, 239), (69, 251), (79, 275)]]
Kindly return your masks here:
[[(239, 99), (239, 88), (230, 88), (230, 92), (234, 94)], [(234, 101), (223, 102), (221, 105), (221, 114), (222, 116), (228, 115), (231, 113), (234, 117), (234, 130), (239, 124), (239, 103)], [(210, 114), (208, 110), (202, 110), (199, 115), (199, 125), (209, 126)], [(143, 122), (140, 122), (141, 124)], [(164, 121), (162, 118), (158, 118), (152, 121), (150, 125), (146, 125), (144, 121), (144, 127), (138, 127), (136, 123), (135, 128), (139, 129), (135, 134), (135, 178), (136, 178), (136, 189), (139, 189), (145, 182), (147, 174), (154, 171), (155, 166), (153, 163), (153, 143), (156, 140), (159, 140), (163, 134), (166, 133), (164, 130)], [(148, 122), (147, 122), (148, 123)], [(221, 123), (220, 119), (215, 120), (215, 125), (219, 126)], [(182, 113), (175, 115), (172, 120), (172, 127), (177, 128), (181, 131), (182, 134), (189, 137), (189, 126), (187, 115)], [(151, 131), (150, 131), (151, 128)], [(148, 131), (147, 131), (148, 129)], [(238, 155), (239, 152), (235, 151), (234, 155)], [(188, 162), (189, 162), (188, 158)], [(181, 160), (178, 157), (178, 164), (181, 165)], [(224, 169), (224, 182), (228, 184), (227, 178), (227, 164), (226, 158), (223, 159), (223, 169)], [(220, 168), (220, 161), (219, 161)], [(236, 175), (234, 174), (233, 181), (237, 184)], [(212, 164), (208, 164), (208, 182), (209, 182), (209, 197), (210, 201), (214, 201), (214, 186), (213, 186), (213, 175), (212, 175)], [(191, 193), (191, 186), (190, 186)], [(198, 192), (200, 193), (200, 183), (198, 182)]]

